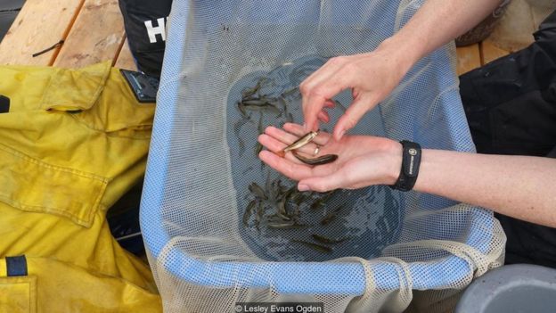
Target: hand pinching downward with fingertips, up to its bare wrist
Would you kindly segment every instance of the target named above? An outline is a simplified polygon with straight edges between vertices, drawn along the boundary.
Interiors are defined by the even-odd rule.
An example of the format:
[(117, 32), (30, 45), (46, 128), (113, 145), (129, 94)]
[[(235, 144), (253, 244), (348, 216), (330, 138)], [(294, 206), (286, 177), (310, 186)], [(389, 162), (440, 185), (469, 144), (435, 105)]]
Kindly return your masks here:
[(331, 98), (350, 88), (354, 101), (333, 130), (338, 141), (394, 90), (412, 65), (403, 49), (388, 41), (371, 53), (331, 58), (299, 85), (306, 132), (318, 129), (319, 120), (328, 123), (326, 110), (335, 105)]

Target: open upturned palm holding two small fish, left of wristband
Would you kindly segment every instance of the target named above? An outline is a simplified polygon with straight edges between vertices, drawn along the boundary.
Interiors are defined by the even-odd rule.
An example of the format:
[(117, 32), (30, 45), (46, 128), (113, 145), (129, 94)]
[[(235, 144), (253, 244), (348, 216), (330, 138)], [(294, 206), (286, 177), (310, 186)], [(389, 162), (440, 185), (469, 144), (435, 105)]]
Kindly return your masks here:
[(402, 167), (402, 146), (396, 141), (375, 136), (343, 136), (335, 141), (331, 134), (320, 132), (312, 143), (298, 152), (315, 157), (313, 153), (318, 144), (321, 148), (316, 156), (337, 154), (339, 157), (328, 164), (309, 166), (298, 161), (291, 152), (284, 158), (275, 154), (305, 134), (305, 129), (297, 124), (286, 123), (283, 129), (285, 131), (268, 127), (258, 136), (258, 142), (269, 150), (258, 155), (271, 168), (298, 180), (300, 191), (325, 192), (396, 183)]

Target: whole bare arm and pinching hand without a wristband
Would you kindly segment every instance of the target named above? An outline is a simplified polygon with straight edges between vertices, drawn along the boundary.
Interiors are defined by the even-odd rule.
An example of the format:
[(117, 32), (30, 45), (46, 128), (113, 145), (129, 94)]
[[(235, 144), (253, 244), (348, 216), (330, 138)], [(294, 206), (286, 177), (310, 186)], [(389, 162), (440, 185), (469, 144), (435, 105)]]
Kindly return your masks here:
[(404, 78), (423, 56), (464, 33), (492, 12), (500, 0), (428, 0), (396, 35), (369, 53), (331, 58), (304, 80), (303, 95), (306, 130), (317, 129), (318, 121), (330, 119), (330, 99), (351, 89), (354, 102), (334, 127), (339, 138), (367, 111), (372, 110)]

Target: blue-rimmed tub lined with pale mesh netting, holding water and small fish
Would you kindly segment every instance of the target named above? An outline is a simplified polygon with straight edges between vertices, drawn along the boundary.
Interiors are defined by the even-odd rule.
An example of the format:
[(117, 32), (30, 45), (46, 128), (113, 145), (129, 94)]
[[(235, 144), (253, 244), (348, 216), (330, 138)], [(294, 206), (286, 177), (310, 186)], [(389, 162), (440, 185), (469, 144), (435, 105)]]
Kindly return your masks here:
[[(501, 265), (505, 237), (490, 211), (381, 185), (298, 193), (257, 157), (263, 128), (302, 121), (299, 82), (332, 56), (372, 51), (420, 5), (175, 1), (142, 202), (166, 311), (246, 301), (444, 310)], [(335, 101), (331, 125), (350, 94)], [(417, 63), (352, 133), (472, 152), (453, 45)]]

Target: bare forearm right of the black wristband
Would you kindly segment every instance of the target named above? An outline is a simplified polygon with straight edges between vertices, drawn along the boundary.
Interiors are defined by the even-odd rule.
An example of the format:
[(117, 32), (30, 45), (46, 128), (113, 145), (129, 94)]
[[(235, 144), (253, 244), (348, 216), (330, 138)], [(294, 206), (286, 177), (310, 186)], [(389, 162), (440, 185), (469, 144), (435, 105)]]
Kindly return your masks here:
[(414, 190), (556, 227), (556, 160), (423, 150)]

